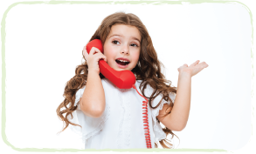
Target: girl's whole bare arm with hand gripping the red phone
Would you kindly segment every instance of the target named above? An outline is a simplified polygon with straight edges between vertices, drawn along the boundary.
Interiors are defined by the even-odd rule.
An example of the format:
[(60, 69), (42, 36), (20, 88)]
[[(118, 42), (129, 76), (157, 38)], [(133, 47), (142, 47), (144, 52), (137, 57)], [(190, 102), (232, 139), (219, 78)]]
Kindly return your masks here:
[(90, 53), (87, 53), (86, 46), (83, 49), (83, 56), (88, 64), (88, 76), (86, 89), (80, 98), (80, 109), (88, 117), (100, 117), (106, 106), (105, 93), (100, 79), (99, 60), (107, 57), (99, 49), (93, 47)]

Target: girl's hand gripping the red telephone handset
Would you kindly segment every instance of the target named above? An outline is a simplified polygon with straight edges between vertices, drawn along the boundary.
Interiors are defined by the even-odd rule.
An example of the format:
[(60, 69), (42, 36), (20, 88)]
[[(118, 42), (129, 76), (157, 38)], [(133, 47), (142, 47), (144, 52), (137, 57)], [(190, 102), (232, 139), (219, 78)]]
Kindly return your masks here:
[(96, 73), (100, 74), (99, 61), (100, 59), (104, 59), (104, 61), (107, 62), (107, 57), (95, 47), (93, 47), (88, 54), (86, 46), (83, 49), (83, 56), (86, 58), (86, 63), (88, 64), (88, 71), (96, 71)]

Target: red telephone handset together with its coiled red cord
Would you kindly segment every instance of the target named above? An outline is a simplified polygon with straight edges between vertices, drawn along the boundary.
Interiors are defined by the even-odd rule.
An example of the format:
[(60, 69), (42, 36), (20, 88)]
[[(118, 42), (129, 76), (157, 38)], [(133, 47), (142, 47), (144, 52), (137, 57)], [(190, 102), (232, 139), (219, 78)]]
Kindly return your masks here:
[[(100, 52), (103, 53), (103, 46), (100, 41), (100, 39), (93, 39), (93, 41), (89, 42), (86, 45), (86, 50), (89, 54), (90, 50), (95, 47), (100, 50)], [(139, 93), (139, 91), (135, 87), (136, 78), (132, 71), (130, 70), (114, 70), (111, 68), (104, 60), (100, 59), (99, 61), (99, 67), (100, 67), (100, 73), (109, 79), (114, 85), (116, 85), (120, 89), (130, 89), (134, 88), (139, 95), (142, 96), (142, 94)], [(142, 96), (143, 97), (143, 96)], [(143, 119), (143, 126), (145, 129), (145, 138), (146, 138), (146, 144), (147, 148), (151, 148), (151, 141), (150, 141), (150, 134), (149, 134), (149, 122), (148, 122), (148, 99), (144, 97), (147, 101), (143, 101), (143, 107), (142, 109), (144, 112), (142, 113), (145, 119)]]

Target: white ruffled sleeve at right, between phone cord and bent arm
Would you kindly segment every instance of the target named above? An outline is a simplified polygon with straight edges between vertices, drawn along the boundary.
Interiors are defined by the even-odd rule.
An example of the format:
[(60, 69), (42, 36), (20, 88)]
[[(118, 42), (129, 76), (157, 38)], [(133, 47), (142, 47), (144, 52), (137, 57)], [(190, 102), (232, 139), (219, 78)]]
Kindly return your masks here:
[[(148, 89), (148, 93), (151, 94), (153, 93), (153, 88), (151, 88), (149, 86)], [(163, 97), (163, 94), (159, 94), (153, 101), (152, 101), (152, 106), (155, 107), (157, 104), (159, 104), (159, 102), (161, 101)], [(169, 97), (170, 99), (174, 102), (175, 100), (175, 97), (176, 95), (173, 94), (173, 93), (170, 93), (169, 94)], [(156, 141), (161, 141), (162, 139), (165, 139), (166, 138), (166, 134), (163, 132), (163, 128), (161, 126), (161, 124), (159, 124), (156, 120), (156, 117), (159, 115), (159, 110), (162, 110), (163, 109), (163, 104), (170, 104), (170, 102), (167, 102), (165, 101), (164, 99), (162, 100), (161, 104), (156, 108), (156, 109), (152, 109), (150, 108), (151, 110), (151, 116), (152, 116), (152, 119), (153, 119), (153, 131), (154, 131), (154, 134), (155, 134), (155, 140)]]

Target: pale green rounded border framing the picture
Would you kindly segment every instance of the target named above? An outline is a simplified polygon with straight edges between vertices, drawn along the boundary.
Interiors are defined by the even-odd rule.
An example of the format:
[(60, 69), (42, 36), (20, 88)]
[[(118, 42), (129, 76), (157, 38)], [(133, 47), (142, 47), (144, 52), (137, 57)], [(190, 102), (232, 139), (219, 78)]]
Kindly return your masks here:
[[(16, 6), (17, 4), (38, 4), (38, 3), (45, 3), (45, 4), (77, 4), (77, 3), (89, 3), (89, 4), (98, 4), (98, 3), (108, 3), (108, 4), (118, 4), (118, 3), (129, 3), (129, 4), (154, 4), (154, 5), (163, 5), (163, 4), (182, 4), (182, 3), (240, 3), (242, 4), (245, 9), (248, 11), (250, 18), (251, 18), (251, 24), (252, 24), (252, 47), (253, 47), (253, 13), (252, 10), (250, 10), (250, 8), (245, 4), (245, 3), (241, 3), (239, 1), (235, 1), (235, 0), (186, 0), (186, 1), (170, 1), (170, 0), (141, 0), (141, 1), (65, 1), (65, 0), (51, 0), (50, 2), (47, 1), (36, 1), (36, 2), (17, 2), (17, 3), (12, 3), (10, 4), (6, 10), (4, 10), (3, 12), (3, 18), (1, 20), (1, 37), (3, 38), (3, 43), (1, 44), (1, 57), (5, 57), (5, 18), (7, 16), (7, 13), (10, 11), (10, 9), (14, 6)], [(254, 53), (253, 50), (251, 52), (251, 57), (252, 57), (252, 63), (254, 61)], [(2, 111), (1, 111), (1, 136), (3, 139), (3, 143), (6, 144), (7, 146), (9, 146), (11, 149), (13, 149), (14, 151), (19, 151), (19, 152), (105, 152), (105, 151), (114, 151), (114, 152), (232, 152), (232, 151), (225, 151), (225, 150), (218, 150), (218, 149), (128, 149), (128, 150), (118, 150), (118, 149), (105, 149), (105, 150), (76, 150), (76, 149), (37, 149), (37, 148), (24, 148), (24, 149), (20, 149), (20, 148), (16, 148), (14, 147), (12, 144), (10, 144), (10, 142), (7, 140), (6, 134), (5, 134), (5, 123), (6, 123), (6, 117), (5, 117), (5, 79), (6, 79), (6, 69), (5, 69), (5, 59), (3, 58), (3, 64), (1, 64), (1, 70), (3, 72), (3, 77), (1, 78), (1, 102), (2, 104)], [(254, 64), (252, 64), (252, 80), (255, 77), (254, 75), (254, 69), (253, 69)], [(253, 93), (253, 88), (254, 88), (254, 83), (252, 86), (252, 98), (254, 97), (254, 93)], [(252, 109), (253, 109), (253, 117), (254, 117), (254, 106), (252, 104)], [(252, 137), (253, 137), (253, 123), (252, 123)], [(250, 139), (251, 141), (251, 139)], [(250, 142), (249, 141), (249, 142)], [(249, 143), (248, 142), (248, 143)]]

